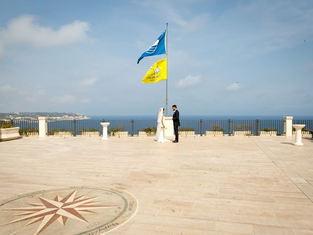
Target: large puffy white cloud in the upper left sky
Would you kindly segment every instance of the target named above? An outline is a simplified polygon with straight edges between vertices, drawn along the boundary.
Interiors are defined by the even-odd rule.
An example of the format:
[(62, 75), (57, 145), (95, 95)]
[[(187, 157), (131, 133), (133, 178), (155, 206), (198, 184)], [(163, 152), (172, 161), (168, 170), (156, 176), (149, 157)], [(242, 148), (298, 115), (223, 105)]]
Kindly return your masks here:
[(7, 45), (51, 47), (90, 42), (91, 39), (87, 35), (89, 30), (88, 22), (74, 21), (54, 30), (38, 24), (34, 16), (20, 16), (0, 30), (0, 53), (3, 53), (3, 48)]

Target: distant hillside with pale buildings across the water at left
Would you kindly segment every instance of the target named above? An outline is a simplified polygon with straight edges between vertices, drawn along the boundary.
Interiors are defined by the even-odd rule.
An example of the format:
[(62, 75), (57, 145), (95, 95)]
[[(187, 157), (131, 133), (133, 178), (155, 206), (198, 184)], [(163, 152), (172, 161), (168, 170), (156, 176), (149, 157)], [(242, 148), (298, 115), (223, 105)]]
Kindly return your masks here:
[(88, 117), (77, 113), (0, 113), (0, 119), (5, 120), (31, 120), (38, 117), (47, 117), (49, 119), (89, 119)]

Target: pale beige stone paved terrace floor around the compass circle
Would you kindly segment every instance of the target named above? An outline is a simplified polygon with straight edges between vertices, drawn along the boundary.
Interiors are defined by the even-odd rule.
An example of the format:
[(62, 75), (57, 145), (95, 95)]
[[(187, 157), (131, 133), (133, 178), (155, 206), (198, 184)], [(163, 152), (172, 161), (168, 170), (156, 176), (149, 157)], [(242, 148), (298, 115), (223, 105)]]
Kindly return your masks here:
[[(0, 200), (45, 188), (105, 186), (138, 201), (136, 214), (110, 235), (313, 235), (313, 141), (303, 138), (304, 146), (293, 141), (196, 137), (158, 144), (149, 137), (47, 137), (0, 142)], [(64, 227), (57, 228), (63, 234)], [(47, 228), (41, 234), (51, 233)]]

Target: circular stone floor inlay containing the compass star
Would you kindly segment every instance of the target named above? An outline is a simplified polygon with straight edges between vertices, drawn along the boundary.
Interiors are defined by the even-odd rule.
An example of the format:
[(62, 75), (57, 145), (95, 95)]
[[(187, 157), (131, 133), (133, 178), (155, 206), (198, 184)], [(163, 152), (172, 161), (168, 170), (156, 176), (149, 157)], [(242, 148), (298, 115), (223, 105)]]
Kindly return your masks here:
[(50, 188), (0, 201), (1, 234), (101, 235), (127, 222), (137, 200), (106, 187)]

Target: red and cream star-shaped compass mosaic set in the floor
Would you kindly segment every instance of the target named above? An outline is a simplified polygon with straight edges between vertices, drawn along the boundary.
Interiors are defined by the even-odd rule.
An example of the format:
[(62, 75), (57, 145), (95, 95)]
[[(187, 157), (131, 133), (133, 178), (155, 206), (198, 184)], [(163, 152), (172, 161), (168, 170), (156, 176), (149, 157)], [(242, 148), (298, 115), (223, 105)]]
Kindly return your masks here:
[(28, 203), (31, 207), (25, 208), (2, 209), (1, 211), (24, 211), (23, 213), (13, 215), (23, 215), (22, 218), (4, 225), (30, 220), (24, 225), (24, 227), (26, 227), (42, 221), (35, 233), (35, 235), (38, 235), (54, 221), (58, 221), (63, 226), (65, 226), (68, 218), (89, 223), (87, 219), (82, 216), (82, 214), (95, 214), (96, 212), (90, 210), (118, 207), (96, 205), (100, 201), (94, 200), (101, 196), (85, 198), (86, 195), (83, 195), (75, 198), (76, 192), (77, 190), (69, 193), (64, 198), (57, 195), (53, 200), (38, 196), (42, 203)]

